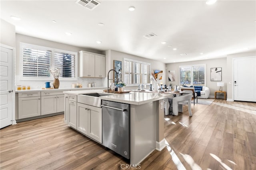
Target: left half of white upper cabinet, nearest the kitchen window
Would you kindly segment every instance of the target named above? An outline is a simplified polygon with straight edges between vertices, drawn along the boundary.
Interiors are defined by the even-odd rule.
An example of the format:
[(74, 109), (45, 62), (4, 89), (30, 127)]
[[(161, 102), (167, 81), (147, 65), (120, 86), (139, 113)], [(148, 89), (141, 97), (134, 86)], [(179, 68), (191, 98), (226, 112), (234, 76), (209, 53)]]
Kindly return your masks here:
[(80, 77), (94, 77), (95, 76), (95, 55), (79, 52), (79, 76)]

